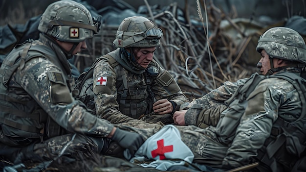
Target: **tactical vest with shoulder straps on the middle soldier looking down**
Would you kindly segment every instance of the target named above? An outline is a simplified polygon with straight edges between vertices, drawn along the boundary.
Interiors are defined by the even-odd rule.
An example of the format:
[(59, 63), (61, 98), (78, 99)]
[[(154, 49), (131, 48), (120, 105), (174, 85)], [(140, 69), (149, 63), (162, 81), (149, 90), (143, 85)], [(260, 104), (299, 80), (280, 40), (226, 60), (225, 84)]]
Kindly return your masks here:
[[(84, 102), (85, 105), (93, 111), (92, 113), (96, 114), (93, 99), (94, 93), (92, 90), (92, 76), (93, 69), (102, 59), (106, 59), (116, 72), (117, 103), (119, 104), (119, 111), (134, 119), (138, 119), (142, 114), (151, 113), (154, 94), (150, 89), (150, 84), (153, 82), (154, 75), (146, 70), (143, 74), (145, 84), (133, 86), (134, 84), (131, 83), (132, 81), (127, 80), (125, 69), (123, 69), (123, 67), (109, 54), (97, 58), (90, 69), (87, 72), (83, 72), (78, 77), (75, 89), (79, 90), (80, 93), (75, 98)], [(155, 64), (153, 60), (149, 64), (148, 69), (156, 66)], [(156, 75), (157, 74), (158, 73), (156, 73)]]

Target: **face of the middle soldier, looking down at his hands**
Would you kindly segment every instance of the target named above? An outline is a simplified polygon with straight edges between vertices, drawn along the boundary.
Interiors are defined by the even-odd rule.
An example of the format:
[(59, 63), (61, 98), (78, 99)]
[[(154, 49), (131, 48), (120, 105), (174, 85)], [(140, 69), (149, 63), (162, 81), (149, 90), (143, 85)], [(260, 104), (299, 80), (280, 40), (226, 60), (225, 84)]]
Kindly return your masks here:
[(141, 48), (138, 51), (134, 52), (137, 63), (143, 67), (147, 68), (149, 63), (153, 60), (155, 47), (150, 48)]

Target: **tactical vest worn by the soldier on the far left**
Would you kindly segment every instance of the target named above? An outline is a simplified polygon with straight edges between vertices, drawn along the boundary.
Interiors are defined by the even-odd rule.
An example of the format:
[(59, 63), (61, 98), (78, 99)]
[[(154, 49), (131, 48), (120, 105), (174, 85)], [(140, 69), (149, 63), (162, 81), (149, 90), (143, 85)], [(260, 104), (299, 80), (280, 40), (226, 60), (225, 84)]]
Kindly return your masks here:
[[(14, 72), (18, 68), (22, 69), (30, 59), (44, 57), (56, 62), (53, 60), (56, 54), (51, 49), (31, 45), (32, 43), (25, 43), (13, 49), (0, 68), (0, 126), (4, 134), (0, 142), (6, 145), (25, 146), (34, 140), (40, 139), (42, 142), (43, 137), (53, 137), (62, 132), (62, 128), (49, 118), (34, 99), (22, 101), (17, 93), (7, 92), (8, 82)], [(31, 113), (22, 110), (26, 107), (32, 107), (31, 110), (27, 109)]]

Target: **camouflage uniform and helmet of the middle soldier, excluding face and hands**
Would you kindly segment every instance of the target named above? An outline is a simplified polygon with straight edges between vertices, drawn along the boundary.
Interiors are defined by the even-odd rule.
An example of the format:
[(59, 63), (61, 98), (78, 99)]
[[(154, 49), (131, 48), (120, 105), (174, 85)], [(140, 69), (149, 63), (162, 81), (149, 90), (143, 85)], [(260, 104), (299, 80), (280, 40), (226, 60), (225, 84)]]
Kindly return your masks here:
[[(127, 21), (131, 24), (125, 26)], [(126, 30), (124, 27), (127, 27)], [(131, 34), (142, 33), (147, 29), (158, 30), (151, 21), (144, 17), (136, 16), (125, 19), (119, 26), (114, 41), (118, 49), (108, 53), (115, 59), (117, 65), (114, 66), (109, 63), (109, 60), (102, 59), (95, 66), (93, 92), (98, 117), (111, 123), (124, 123), (152, 113), (153, 102), (159, 99), (168, 99), (174, 104), (174, 108), (176, 105), (188, 102), (188, 98), (182, 93), (173, 76), (167, 70), (162, 69), (154, 60), (146, 69), (143, 69), (134, 62), (135, 60), (131, 59), (134, 58), (133, 53), (128, 54), (125, 50), (134, 47), (158, 46), (159, 38), (162, 35), (155, 35), (150, 39), (141, 36), (142, 40), (136, 43), (124, 44), (126, 40), (132, 38)], [(118, 36), (120, 33), (123, 34), (121, 39)], [(130, 35), (125, 37), (124, 35), (127, 33)], [(117, 40), (120, 41), (120, 45)], [(152, 69), (151, 72), (150, 69)], [(101, 78), (107, 80), (105, 84), (98, 82)], [(123, 96), (125, 92), (127, 94)], [(172, 120), (171, 116), (169, 118)]]

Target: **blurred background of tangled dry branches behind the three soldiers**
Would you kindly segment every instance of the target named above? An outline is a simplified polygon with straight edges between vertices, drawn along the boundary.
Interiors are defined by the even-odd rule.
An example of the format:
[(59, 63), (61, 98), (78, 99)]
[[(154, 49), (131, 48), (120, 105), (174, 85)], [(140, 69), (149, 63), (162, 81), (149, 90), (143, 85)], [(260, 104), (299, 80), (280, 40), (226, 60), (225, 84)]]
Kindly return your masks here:
[[(57, 0), (0, 0), (0, 62), (16, 45), (37, 39), (40, 15)], [(142, 15), (162, 28), (154, 59), (169, 70), (190, 99), (224, 81), (258, 72), (256, 51), (268, 28), (286, 26), (306, 35), (305, 0), (76, 0), (102, 28), (87, 50), (70, 62), (79, 73), (99, 56), (115, 49), (112, 41), (121, 21)]]

